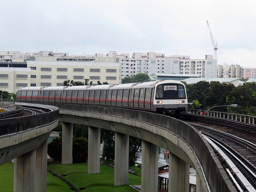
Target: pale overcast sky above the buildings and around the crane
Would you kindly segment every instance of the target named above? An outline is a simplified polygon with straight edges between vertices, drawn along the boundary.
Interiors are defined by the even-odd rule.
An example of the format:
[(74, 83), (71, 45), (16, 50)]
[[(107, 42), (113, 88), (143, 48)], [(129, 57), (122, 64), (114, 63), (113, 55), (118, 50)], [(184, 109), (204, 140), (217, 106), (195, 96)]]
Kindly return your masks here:
[(255, 0), (2, 0), (0, 50), (213, 55), (256, 68)]

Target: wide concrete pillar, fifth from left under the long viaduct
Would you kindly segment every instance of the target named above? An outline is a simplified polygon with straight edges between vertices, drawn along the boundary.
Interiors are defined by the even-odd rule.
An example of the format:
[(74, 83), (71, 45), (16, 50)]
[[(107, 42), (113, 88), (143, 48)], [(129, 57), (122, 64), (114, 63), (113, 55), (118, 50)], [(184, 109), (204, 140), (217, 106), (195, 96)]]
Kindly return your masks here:
[(169, 192), (189, 191), (189, 164), (169, 153)]

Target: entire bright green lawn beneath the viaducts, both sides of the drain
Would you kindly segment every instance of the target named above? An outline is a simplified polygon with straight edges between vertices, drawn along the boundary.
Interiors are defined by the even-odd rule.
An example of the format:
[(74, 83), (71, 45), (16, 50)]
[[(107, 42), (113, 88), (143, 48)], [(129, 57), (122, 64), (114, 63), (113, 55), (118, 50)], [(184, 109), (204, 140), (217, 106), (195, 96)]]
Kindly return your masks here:
[[(64, 178), (71, 182), (76, 188), (84, 187), (81, 190), (92, 192), (118, 192), (136, 191), (129, 185), (140, 185), (141, 177), (129, 174), (129, 185), (114, 186), (114, 168), (100, 164), (99, 174), (87, 174), (87, 163), (80, 164), (51, 164), (48, 169), (61, 175), (68, 174)], [(0, 166), (0, 189), (1, 192), (13, 191), (13, 163), (8, 162)], [(47, 172), (47, 192), (66, 192), (70, 191), (69, 186), (62, 180), (52, 176)]]

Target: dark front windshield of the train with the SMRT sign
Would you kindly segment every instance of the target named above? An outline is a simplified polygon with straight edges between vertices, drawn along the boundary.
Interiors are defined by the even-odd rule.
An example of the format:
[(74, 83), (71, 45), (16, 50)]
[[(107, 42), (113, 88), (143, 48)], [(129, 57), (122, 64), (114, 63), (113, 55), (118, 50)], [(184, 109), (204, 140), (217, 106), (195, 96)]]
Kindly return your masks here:
[(181, 84), (158, 85), (156, 99), (186, 99), (185, 88)]

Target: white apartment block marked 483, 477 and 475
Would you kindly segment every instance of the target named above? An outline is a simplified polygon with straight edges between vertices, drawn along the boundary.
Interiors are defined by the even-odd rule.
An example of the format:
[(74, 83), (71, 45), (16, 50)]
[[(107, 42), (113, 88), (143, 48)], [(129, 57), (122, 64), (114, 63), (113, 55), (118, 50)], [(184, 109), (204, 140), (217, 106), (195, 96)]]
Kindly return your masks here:
[(164, 53), (133, 53), (131, 59), (122, 59), (122, 78), (138, 73), (196, 74), (201, 77), (217, 77), (217, 60), (212, 55), (205, 59), (190, 59), (190, 56), (165, 56)]

